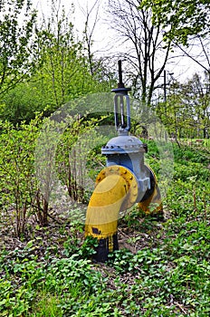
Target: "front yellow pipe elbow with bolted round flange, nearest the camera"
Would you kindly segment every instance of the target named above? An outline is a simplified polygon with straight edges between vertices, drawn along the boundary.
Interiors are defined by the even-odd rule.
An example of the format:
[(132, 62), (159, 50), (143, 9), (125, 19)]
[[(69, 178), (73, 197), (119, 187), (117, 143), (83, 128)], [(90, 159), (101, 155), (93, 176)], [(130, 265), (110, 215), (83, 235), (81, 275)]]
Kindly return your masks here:
[(119, 212), (131, 207), (138, 195), (138, 181), (128, 168), (104, 168), (92, 193), (85, 221), (85, 235), (104, 239), (117, 233)]

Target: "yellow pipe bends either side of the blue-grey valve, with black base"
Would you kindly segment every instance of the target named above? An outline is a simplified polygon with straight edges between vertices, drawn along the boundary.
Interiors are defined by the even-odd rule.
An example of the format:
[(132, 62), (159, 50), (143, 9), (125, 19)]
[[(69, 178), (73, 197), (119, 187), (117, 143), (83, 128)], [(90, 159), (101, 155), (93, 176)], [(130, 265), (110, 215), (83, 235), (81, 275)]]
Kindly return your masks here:
[[(129, 168), (114, 165), (100, 171), (85, 220), (85, 236), (91, 235), (99, 241), (95, 256), (97, 261), (105, 262), (109, 252), (118, 248), (119, 212), (132, 207), (137, 201), (138, 180)], [(139, 202), (138, 207), (148, 214), (151, 212), (151, 203), (157, 204), (156, 212), (162, 208), (156, 178), (153, 192), (147, 199)]]

